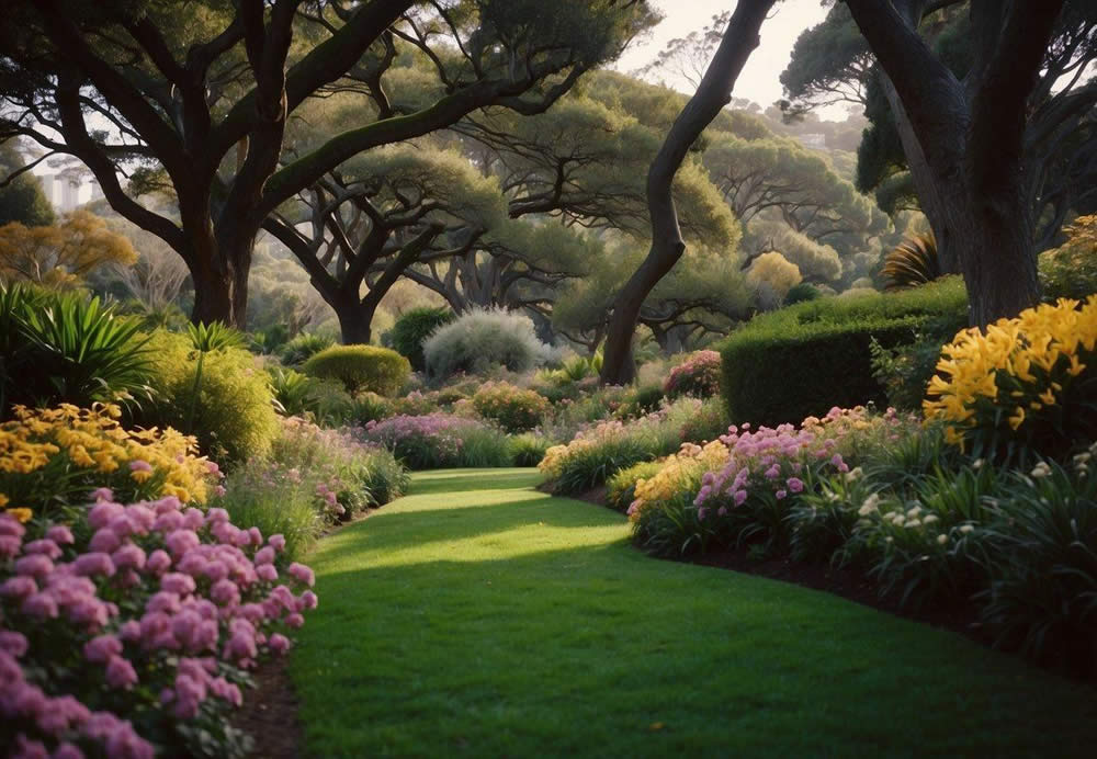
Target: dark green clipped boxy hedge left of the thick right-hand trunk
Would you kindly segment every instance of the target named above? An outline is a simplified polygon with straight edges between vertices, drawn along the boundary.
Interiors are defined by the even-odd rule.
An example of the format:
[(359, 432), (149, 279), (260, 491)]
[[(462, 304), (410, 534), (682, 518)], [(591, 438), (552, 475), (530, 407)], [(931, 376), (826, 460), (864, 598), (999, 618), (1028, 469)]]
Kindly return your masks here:
[[(958, 277), (894, 294), (824, 298), (756, 317), (720, 345), (724, 401), (734, 422), (776, 426), (834, 406), (886, 401), (870, 343), (951, 337), (968, 324)], [(948, 339), (946, 337), (945, 339)]]

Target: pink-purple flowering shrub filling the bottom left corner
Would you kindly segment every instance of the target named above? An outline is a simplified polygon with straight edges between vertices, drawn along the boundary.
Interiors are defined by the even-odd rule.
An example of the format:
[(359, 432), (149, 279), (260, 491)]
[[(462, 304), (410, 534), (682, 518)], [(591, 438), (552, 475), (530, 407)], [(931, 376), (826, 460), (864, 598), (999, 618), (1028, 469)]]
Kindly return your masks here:
[(0, 745), (14, 756), (242, 756), (248, 670), (317, 604), (285, 540), (110, 490), (71, 524), (0, 514)]

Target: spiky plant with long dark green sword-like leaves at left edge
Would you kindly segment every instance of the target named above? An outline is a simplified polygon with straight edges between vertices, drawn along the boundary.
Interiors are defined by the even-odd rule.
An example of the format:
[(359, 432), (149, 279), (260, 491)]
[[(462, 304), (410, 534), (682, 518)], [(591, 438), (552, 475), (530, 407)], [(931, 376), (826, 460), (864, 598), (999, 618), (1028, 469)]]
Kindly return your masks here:
[(82, 293), (0, 283), (0, 414), (147, 400), (151, 360), (138, 328)]

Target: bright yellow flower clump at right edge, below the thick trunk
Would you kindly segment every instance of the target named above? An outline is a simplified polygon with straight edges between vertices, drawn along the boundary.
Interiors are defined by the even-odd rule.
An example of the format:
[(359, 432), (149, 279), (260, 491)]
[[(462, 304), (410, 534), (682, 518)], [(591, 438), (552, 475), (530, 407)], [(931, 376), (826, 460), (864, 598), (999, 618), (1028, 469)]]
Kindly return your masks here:
[(1097, 295), (968, 329), (941, 352), (924, 411), (984, 453), (1062, 455), (1097, 438)]

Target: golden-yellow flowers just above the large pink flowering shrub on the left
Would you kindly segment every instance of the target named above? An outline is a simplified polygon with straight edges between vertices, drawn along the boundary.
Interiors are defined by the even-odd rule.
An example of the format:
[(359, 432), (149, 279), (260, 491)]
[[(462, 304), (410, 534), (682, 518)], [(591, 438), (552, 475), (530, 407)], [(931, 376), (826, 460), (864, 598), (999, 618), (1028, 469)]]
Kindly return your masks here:
[(89, 502), (100, 487), (126, 503), (162, 496), (205, 503), (218, 469), (196, 455), (194, 439), (170, 428), (126, 430), (120, 416), (110, 404), (16, 406), (0, 424), (0, 508), (41, 514)]

